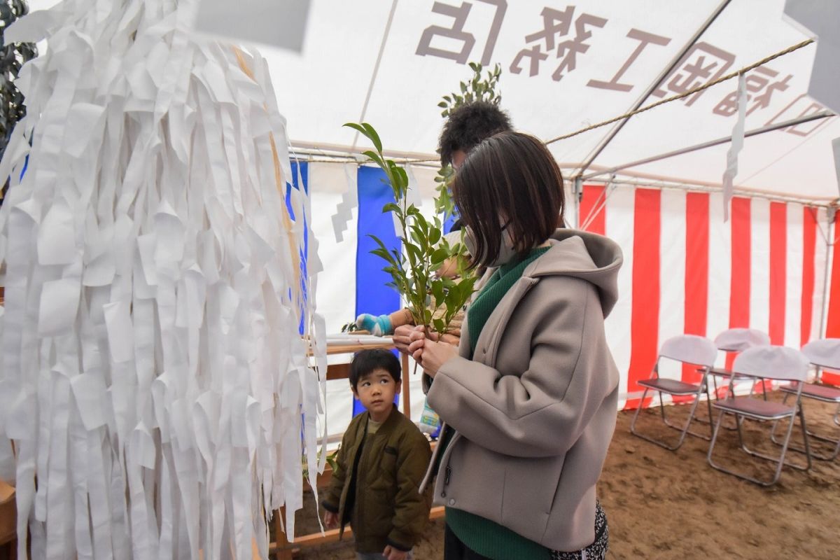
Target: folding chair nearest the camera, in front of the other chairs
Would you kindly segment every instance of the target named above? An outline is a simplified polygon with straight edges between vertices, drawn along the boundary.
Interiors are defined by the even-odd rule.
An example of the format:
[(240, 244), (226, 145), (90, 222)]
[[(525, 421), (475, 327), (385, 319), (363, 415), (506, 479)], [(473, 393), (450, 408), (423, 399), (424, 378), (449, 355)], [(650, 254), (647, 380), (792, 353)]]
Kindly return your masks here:
[[(713, 408), (720, 411), (715, 422), (715, 431), (711, 435), (711, 443), (709, 444), (709, 453), (707, 455), (709, 464), (712, 468), (723, 471), (727, 474), (733, 474), (740, 479), (749, 480), (755, 484), (762, 486), (771, 486), (775, 484), (781, 475), (782, 466), (788, 465), (792, 468), (807, 470), (811, 468), (811, 447), (808, 443), (808, 432), (805, 423), (805, 415), (802, 413), (801, 396), (802, 396), (802, 382), (805, 381), (808, 374), (808, 359), (805, 355), (793, 348), (785, 348), (783, 346), (759, 346), (748, 348), (738, 355), (735, 363), (732, 364), (732, 376), (729, 378), (729, 395), (724, 400), (717, 400), (711, 404)], [(734, 396), (732, 392), (736, 377), (746, 377), (753, 379), (753, 381), (764, 381), (765, 379), (781, 379), (787, 381), (797, 381), (797, 388), (795, 392), (795, 403), (793, 406), (788, 406), (785, 403), (774, 402), (772, 400), (763, 400), (748, 396)], [(776, 464), (775, 474), (770, 480), (760, 480), (748, 476), (747, 474), (737, 473), (723, 468), (712, 460), (712, 454), (717, 443), (717, 435), (720, 433), (720, 428), (723, 423), (723, 416), (733, 414), (736, 417), (735, 425), (738, 430), (738, 441), (745, 453), (749, 453), (753, 457), (763, 458), (769, 461), (774, 461)], [(790, 434), (793, 432), (795, 417), (799, 416), (802, 427), (802, 438), (805, 441), (807, 464), (805, 467), (801, 465), (786, 463), (785, 453), (787, 452), (788, 443), (790, 442)], [(790, 420), (790, 423), (785, 433), (785, 439), (781, 442), (781, 453), (778, 458), (765, 455), (749, 449), (743, 440), (743, 428), (741, 426), (742, 418), (750, 418), (756, 421), (780, 421), (785, 418)]]

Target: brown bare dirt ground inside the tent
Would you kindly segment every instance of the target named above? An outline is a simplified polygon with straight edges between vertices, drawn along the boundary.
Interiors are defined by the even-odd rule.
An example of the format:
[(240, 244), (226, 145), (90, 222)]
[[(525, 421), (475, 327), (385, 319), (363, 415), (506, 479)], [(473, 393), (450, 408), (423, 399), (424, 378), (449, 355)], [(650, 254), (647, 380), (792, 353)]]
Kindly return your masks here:
[[(687, 414), (685, 406), (666, 410), (675, 421)], [(806, 421), (811, 430), (840, 436), (840, 428), (832, 424), (834, 411), (836, 407), (808, 401)], [(638, 428), (659, 437), (677, 436), (658, 422), (656, 414), (643, 411)], [(705, 410), (702, 416), (705, 418)], [(815, 461), (809, 472), (784, 468), (778, 484), (763, 488), (711, 468), (706, 463), (708, 442), (700, 438), (687, 437), (677, 452), (670, 452), (634, 437), (630, 434), (632, 417), (632, 411), (618, 413), (598, 489), (610, 527), (608, 557), (840, 557), (840, 458), (831, 463)], [(708, 429), (703, 424), (692, 426), (698, 431)], [(765, 439), (760, 429), (766, 426), (745, 422), (748, 445), (778, 453), (779, 447), (773, 444), (762, 446)], [(736, 433), (722, 431), (715, 447), (718, 462), (748, 469), (753, 475), (769, 475), (770, 463), (756, 464), (756, 459), (740, 451)], [(796, 435), (795, 431), (791, 441), (796, 441)], [(797, 439), (801, 442), (801, 435)], [(789, 452), (788, 458), (804, 460), (801, 453), (794, 452)], [(307, 503), (311, 505), (312, 500)], [(318, 530), (313, 515), (311, 507), (298, 513), (298, 534)], [(415, 558), (443, 558), (443, 534), (444, 520), (431, 522), (427, 536), (415, 548)], [(310, 548), (296, 557), (351, 560), (355, 556), (352, 544), (344, 542)]]

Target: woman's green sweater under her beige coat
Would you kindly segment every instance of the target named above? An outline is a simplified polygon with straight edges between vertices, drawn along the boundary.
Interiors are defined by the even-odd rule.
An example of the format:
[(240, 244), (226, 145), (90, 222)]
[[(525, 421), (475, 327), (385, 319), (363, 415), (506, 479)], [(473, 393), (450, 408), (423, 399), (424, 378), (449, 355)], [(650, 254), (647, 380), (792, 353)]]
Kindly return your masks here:
[[(487, 281), (467, 312), (467, 325), (470, 330), (470, 356), (475, 352), (475, 343), (481, 329), (487, 322), (493, 310), (507, 294), (512, 285), (522, 277), (528, 264), (537, 259), (549, 249), (533, 249), (524, 260), (503, 264)], [(449, 438), (444, 438), (448, 443)], [(442, 450), (443, 451), (443, 450)], [(443, 456), (443, 453), (441, 453)], [(539, 545), (501, 526), (495, 521), (475, 516), (464, 510), (446, 508), (446, 524), (455, 536), (470, 550), (491, 558), (491, 560), (510, 560), (510, 558), (527, 558), (528, 560), (549, 560), (549, 548)]]

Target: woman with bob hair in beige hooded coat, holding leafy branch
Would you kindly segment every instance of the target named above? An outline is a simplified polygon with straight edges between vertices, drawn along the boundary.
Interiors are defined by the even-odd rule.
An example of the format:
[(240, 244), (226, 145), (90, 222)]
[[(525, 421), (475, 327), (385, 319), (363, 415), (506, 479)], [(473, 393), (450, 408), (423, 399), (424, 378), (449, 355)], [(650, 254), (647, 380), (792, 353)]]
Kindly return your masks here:
[[(604, 317), (621, 250), (556, 229), (563, 179), (548, 149), (499, 133), (456, 175), (474, 265), (496, 267), (467, 311), (459, 348), (417, 331), (448, 429), (426, 482), (445, 505), (446, 560), (602, 558), (596, 482), (616, 422), (618, 372)], [(425, 483), (424, 483), (425, 484)]]

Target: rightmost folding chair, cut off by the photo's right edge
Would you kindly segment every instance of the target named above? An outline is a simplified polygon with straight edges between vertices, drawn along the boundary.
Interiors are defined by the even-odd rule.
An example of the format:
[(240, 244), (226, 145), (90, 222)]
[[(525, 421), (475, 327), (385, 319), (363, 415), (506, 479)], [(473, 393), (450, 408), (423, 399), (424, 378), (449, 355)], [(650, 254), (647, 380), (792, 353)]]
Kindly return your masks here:
[[(840, 427), (840, 388), (832, 387), (831, 385), (822, 385), (822, 369), (840, 369), (840, 338), (825, 338), (823, 340), (815, 340), (812, 343), (807, 343), (802, 347), (802, 353), (806, 355), (808, 361), (816, 366), (816, 379), (814, 383), (791, 383), (790, 385), (782, 385), (780, 390), (785, 393), (785, 398), (782, 402), (786, 403), (790, 395), (795, 395), (796, 390), (799, 389), (797, 385), (802, 385), (802, 398), (820, 400), (822, 402), (837, 404), (837, 412), (834, 414), (834, 423)], [(773, 441), (776, 440), (776, 429), (773, 427)], [(833, 461), (840, 455), (840, 435), (837, 437), (826, 437), (814, 432), (808, 432), (809, 437), (820, 440), (821, 442), (829, 442), (834, 444), (834, 453), (831, 455), (823, 455), (822, 453), (811, 453), (811, 457), (821, 459), (823, 461)], [(795, 451), (804, 451), (801, 447), (789, 446)]]

